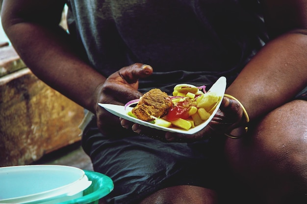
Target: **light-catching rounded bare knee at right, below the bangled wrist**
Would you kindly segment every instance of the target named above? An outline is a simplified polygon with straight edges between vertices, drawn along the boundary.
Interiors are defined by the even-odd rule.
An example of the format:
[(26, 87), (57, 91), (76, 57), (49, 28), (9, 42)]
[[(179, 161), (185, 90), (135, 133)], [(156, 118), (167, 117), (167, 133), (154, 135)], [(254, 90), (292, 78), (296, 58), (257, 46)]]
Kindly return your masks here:
[[(272, 111), (255, 128), (257, 153), (280, 170), (307, 162), (307, 101), (292, 101)], [(253, 146), (253, 144), (251, 144)]]

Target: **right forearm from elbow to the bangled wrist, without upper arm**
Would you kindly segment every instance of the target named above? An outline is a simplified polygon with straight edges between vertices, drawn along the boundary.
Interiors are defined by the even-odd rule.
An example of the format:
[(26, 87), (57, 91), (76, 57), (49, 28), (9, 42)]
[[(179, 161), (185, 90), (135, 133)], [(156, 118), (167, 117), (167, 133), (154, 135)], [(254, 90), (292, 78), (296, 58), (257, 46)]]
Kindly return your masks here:
[(307, 35), (291, 32), (271, 41), (242, 70), (226, 93), (251, 119), (268, 113), (307, 86)]

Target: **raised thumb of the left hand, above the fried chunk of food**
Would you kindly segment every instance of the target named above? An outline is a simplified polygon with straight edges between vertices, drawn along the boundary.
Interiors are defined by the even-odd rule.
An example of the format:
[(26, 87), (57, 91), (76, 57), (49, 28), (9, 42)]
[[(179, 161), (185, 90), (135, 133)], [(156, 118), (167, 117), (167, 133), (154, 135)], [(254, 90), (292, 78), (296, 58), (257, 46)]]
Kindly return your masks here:
[(131, 66), (121, 68), (118, 73), (128, 82), (128, 84), (134, 84), (138, 81), (138, 79), (150, 76), (153, 73), (153, 68), (149, 65), (136, 63)]

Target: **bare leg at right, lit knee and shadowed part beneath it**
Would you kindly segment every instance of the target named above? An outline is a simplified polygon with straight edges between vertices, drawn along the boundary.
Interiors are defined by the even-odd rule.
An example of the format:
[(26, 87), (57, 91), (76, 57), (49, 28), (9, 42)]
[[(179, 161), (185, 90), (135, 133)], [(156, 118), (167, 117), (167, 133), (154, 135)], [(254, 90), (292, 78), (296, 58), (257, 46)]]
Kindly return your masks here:
[(262, 204), (306, 204), (307, 101), (274, 110), (251, 134), (226, 143), (231, 169), (244, 188)]

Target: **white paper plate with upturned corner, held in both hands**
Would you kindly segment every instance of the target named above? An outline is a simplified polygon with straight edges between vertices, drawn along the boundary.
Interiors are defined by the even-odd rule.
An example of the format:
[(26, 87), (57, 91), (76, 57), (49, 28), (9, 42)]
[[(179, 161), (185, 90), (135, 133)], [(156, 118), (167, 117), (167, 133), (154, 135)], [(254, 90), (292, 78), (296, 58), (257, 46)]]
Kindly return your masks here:
[[(216, 93), (218, 96), (223, 97), (225, 90), (226, 90), (226, 78), (224, 76), (222, 76), (213, 84), (213, 86), (210, 88), (210, 90), (208, 90), (208, 92), (211, 91), (211, 92)], [(159, 126), (159, 125), (155, 125), (153, 123), (149, 123), (149, 122), (131, 117), (131, 116), (128, 115), (128, 112), (131, 111), (132, 107), (127, 107), (126, 110), (125, 110), (125, 107), (120, 106), (120, 105), (102, 104), (102, 103), (99, 103), (99, 105), (101, 107), (103, 107), (105, 110), (107, 110), (108, 112), (110, 112), (114, 115), (117, 115), (117, 116), (122, 117), (126, 120), (129, 120), (129, 121), (138, 123), (140, 125), (155, 128), (155, 129), (158, 129), (158, 130), (173, 132), (173, 133), (194, 134), (194, 133), (197, 133), (198, 131), (202, 130), (212, 120), (215, 113), (220, 108), (221, 103), (222, 103), (222, 100), (219, 101), (216, 108), (214, 109), (214, 111), (212, 112), (210, 117), (205, 122), (203, 122), (202, 124), (200, 124), (200, 125), (198, 125), (194, 128), (191, 128), (189, 130), (183, 130), (183, 129), (174, 128), (174, 127), (166, 128), (166, 127), (162, 127), (162, 126)]]

